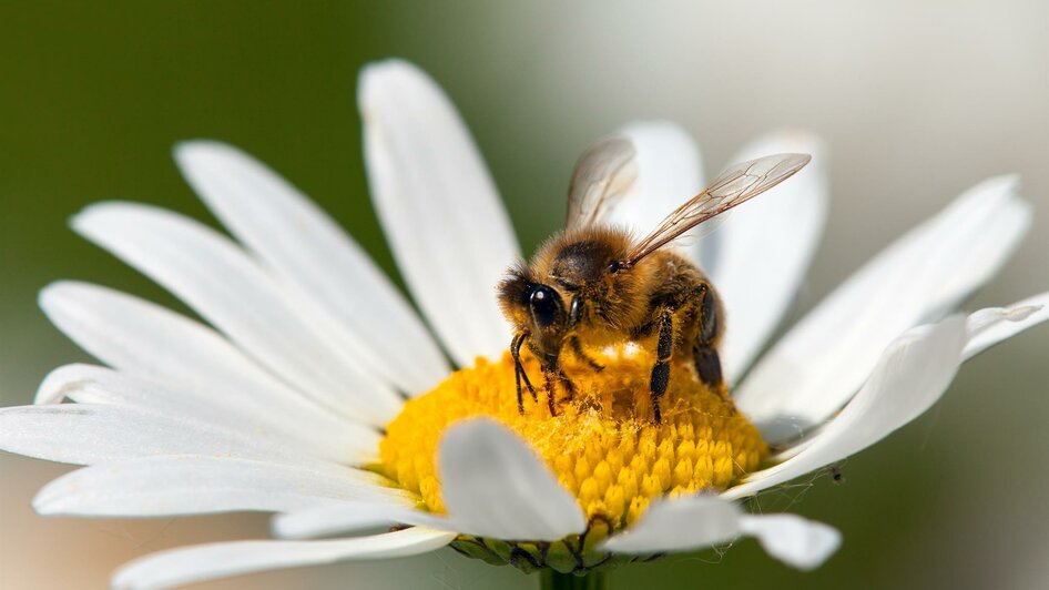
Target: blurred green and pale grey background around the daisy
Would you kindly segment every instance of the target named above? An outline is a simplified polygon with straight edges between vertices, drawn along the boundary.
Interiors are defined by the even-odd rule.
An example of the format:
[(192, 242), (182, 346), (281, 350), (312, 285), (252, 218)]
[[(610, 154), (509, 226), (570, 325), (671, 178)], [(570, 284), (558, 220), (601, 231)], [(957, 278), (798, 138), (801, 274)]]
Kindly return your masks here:
[[(848, 4), (848, 6), (846, 6)], [(1049, 288), (1049, 4), (982, 2), (0, 3), (0, 405), (88, 358), (35, 293), (79, 278), (170, 295), (67, 228), (88, 203), (157, 203), (214, 223), (171, 145), (208, 136), (268, 162), (390, 272), (367, 197), (355, 78), (418, 62), (469, 123), (530, 251), (560, 223), (593, 138), (669, 118), (709, 169), (755, 135), (829, 142), (833, 205), (797, 313), (889, 240), (986, 176), (1023, 175), (1031, 236), (971, 306)], [(798, 573), (753, 541), (618, 572), (617, 589), (1049, 586), (1049, 328), (967, 364), (946, 398), (852, 458), (765, 498), (841, 528)], [(100, 588), (147, 552), (266, 535), (261, 515), (42, 519), (29, 502), (68, 468), (0, 456), (0, 587)], [(451, 551), (231, 579), (206, 588), (532, 588)]]

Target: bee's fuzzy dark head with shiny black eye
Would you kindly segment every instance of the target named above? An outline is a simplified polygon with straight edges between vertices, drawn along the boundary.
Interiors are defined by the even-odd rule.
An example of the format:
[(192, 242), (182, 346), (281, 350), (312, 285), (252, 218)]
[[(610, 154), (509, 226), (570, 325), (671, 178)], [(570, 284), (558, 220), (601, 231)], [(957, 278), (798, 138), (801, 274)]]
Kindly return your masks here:
[(534, 350), (557, 356), (570, 324), (569, 311), (557, 288), (533, 279), (531, 271), (521, 265), (511, 268), (499, 283), (499, 305), (519, 332), (529, 334)]

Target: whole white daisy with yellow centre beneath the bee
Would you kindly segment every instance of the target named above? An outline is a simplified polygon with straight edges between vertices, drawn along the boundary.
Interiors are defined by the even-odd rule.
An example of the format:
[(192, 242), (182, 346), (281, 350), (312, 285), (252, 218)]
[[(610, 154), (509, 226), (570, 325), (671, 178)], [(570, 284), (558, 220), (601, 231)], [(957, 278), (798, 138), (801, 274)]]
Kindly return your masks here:
[[(727, 309), (731, 396), (674, 366), (655, 424), (652, 353), (622, 345), (598, 353), (602, 372), (568, 362), (579, 395), (557, 416), (528, 396), (521, 413), (495, 295), (520, 253), (469, 133), (405, 62), (367, 68), (359, 104), (375, 205), (421, 317), (328, 216), (225, 144), (187, 142), (175, 159), (236, 241), (134, 203), (73, 218), (210, 325), (102, 286), (43, 291), (48, 316), (105, 366), (57, 368), (34, 405), (0, 410), (0, 448), (86, 466), (44, 487), (35, 509), (277, 513), (278, 540), (147, 556), (115, 587), (447, 546), (568, 587), (582, 578), (567, 574), (740, 537), (813, 568), (837, 531), (746, 500), (880, 440), (931, 406), (964, 360), (1049, 317), (1049, 293), (953, 313), (1029, 225), (1004, 176), (897, 240), (761, 354), (827, 208), (821, 143), (777, 134), (734, 161), (805, 152), (813, 164), (688, 250)], [(638, 177), (614, 221), (645, 231), (703, 186), (700, 155), (669, 123), (622, 134)], [(530, 357), (524, 367), (538, 370)]]

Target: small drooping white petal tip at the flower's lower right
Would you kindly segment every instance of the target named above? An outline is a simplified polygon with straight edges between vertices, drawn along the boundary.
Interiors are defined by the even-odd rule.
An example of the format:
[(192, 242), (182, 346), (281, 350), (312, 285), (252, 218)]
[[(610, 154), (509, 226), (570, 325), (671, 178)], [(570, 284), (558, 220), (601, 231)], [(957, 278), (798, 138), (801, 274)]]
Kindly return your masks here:
[(740, 530), (756, 537), (770, 556), (801, 570), (819, 567), (842, 546), (837, 529), (797, 515), (745, 515)]

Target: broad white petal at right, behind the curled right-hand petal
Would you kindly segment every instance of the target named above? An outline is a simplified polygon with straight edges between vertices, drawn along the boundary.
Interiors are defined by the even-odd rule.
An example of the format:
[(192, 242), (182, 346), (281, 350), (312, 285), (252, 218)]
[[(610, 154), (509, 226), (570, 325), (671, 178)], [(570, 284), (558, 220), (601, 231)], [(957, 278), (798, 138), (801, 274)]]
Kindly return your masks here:
[(943, 315), (990, 278), (1030, 223), (1015, 191), (1014, 177), (969, 190), (860, 268), (762, 358), (736, 403), (766, 440), (832, 416), (896, 334)]

